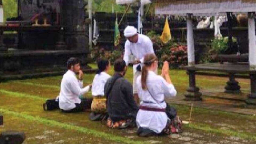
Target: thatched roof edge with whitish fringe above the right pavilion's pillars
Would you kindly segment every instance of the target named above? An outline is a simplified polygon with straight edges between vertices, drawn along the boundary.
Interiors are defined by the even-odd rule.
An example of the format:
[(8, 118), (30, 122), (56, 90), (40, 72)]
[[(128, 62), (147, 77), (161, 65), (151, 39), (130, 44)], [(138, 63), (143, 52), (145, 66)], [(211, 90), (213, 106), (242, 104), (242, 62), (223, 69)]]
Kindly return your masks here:
[(156, 3), (156, 14), (214, 15), (226, 12), (256, 11), (256, 0), (151, 0)]

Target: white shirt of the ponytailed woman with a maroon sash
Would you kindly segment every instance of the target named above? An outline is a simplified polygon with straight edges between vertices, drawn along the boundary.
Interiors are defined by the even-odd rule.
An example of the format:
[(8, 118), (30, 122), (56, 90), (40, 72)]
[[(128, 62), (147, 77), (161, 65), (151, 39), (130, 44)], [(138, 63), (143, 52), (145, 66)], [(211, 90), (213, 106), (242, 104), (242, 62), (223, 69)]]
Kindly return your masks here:
[[(146, 85), (157, 102), (152, 98), (148, 90), (142, 89), (141, 76), (137, 78), (136, 83), (141, 106), (165, 109), (165, 97), (175, 97), (177, 94), (172, 84), (167, 83), (163, 77), (156, 75), (153, 71), (148, 71)], [(167, 119), (165, 112), (140, 109), (136, 117), (136, 123), (138, 127), (146, 127), (156, 133), (161, 133), (167, 124)]]

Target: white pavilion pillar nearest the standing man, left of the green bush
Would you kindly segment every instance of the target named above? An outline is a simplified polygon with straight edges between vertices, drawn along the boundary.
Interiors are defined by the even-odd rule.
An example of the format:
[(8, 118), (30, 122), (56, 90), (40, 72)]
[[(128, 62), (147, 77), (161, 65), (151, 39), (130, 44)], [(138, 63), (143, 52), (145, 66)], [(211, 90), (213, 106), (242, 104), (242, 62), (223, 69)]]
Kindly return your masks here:
[(187, 64), (188, 66), (195, 65), (195, 45), (191, 15), (187, 15)]

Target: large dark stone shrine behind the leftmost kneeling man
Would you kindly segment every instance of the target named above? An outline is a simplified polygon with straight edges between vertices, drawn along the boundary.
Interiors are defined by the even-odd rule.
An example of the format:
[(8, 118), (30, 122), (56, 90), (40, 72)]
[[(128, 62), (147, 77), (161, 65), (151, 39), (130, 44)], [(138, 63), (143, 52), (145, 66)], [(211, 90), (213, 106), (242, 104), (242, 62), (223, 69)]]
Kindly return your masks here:
[(19, 1), (19, 12), (24, 18), (29, 19), (40, 11), (56, 8), (54, 11), (59, 14), (56, 17), (59, 23), (53, 21), (51, 24), (54, 26), (44, 27), (44, 30), (26, 26), (28, 28), (19, 34), (4, 37), (6, 46), (16, 48), (18, 44), (19, 49), (0, 52), (0, 82), (15, 75), (17, 78), (24, 75), (33, 78), (45, 73), (62, 74), (67, 70), (66, 61), (70, 57), (80, 58), (82, 69), (88, 69), (89, 40), (85, 6), (84, 0)]

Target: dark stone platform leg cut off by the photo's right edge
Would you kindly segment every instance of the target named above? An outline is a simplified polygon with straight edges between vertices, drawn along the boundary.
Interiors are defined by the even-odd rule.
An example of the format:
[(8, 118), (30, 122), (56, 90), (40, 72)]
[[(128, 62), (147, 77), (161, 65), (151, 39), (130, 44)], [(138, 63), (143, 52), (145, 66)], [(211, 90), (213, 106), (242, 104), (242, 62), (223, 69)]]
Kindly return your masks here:
[(251, 94), (247, 96), (247, 105), (256, 105), (256, 74), (250, 74)]

